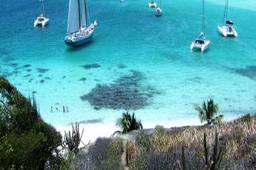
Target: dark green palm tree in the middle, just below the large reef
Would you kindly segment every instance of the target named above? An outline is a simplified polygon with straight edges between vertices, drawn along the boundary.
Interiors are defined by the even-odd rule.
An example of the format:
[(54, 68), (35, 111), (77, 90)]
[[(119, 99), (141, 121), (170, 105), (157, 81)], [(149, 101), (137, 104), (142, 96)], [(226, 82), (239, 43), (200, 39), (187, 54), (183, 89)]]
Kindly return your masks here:
[(140, 130), (143, 128), (141, 121), (135, 118), (134, 113), (133, 115), (130, 115), (128, 111), (122, 113), (122, 117), (116, 121), (116, 126), (119, 126), (122, 131), (116, 131), (114, 134), (120, 132), (125, 134), (133, 130)]

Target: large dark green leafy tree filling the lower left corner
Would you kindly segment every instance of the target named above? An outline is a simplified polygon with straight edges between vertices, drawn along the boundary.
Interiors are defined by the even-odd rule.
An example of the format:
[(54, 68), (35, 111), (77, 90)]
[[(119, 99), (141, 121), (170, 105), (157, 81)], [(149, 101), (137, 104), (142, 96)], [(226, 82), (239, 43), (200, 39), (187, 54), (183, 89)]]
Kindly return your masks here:
[(45, 169), (62, 136), (45, 123), (36, 100), (0, 76), (0, 169)]

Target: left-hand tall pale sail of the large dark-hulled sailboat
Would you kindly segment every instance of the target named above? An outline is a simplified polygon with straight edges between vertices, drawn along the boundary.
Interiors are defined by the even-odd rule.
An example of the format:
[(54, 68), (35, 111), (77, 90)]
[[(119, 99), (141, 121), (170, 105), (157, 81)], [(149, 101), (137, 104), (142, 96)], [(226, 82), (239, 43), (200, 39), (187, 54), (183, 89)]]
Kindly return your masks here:
[(79, 29), (79, 1), (70, 0), (68, 9), (68, 34), (75, 33)]

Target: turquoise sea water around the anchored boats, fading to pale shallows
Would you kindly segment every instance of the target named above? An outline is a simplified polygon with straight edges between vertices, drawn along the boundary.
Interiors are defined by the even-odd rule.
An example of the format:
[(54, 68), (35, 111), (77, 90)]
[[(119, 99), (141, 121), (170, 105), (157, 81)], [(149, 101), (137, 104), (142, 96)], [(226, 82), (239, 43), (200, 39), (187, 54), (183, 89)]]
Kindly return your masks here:
[[(224, 3), (206, 1), (211, 46), (203, 54), (189, 49), (200, 33), (199, 0), (162, 1), (160, 18), (147, 0), (89, 0), (98, 27), (91, 44), (76, 50), (64, 43), (68, 1), (45, 1), (50, 18), (45, 29), (33, 27), (39, 1), (6, 1), (0, 10), (0, 74), (24, 95), (35, 92), (42, 118), (54, 126), (93, 119), (113, 123), (125, 108), (105, 106), (108, 98), (93, 89), (100, 84), (111, 90), (124, 82), (138, 91), (129, 100), (139, 98), (142, 104), (130, 109), (142, 123), (198, 123), (193, 106), (208, 98), (219, 103), (226, 118), (256, 112), (255, 0), (230, 2), (238, 38), (217, 32)], [(87, 68), (90, 64), (96, 67)], [(82, 101), (87, 94), (99, 95), (102, 106)], [(50, 106), (59, 111), (50, 112)], [(62, 106), (70, 112), (62, 113)]]

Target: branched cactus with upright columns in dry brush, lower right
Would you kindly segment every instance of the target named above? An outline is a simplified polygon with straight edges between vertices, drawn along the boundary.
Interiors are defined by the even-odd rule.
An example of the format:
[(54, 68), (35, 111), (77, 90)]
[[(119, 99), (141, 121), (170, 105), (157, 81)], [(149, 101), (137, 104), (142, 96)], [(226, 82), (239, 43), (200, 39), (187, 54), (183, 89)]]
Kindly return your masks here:
[(207, 146), (206, 143), (206, 133), (203, 134), (203, 147), (205, 151), (205, 162), (207, 169), (210, 170), (217, 170), (220, 169), (220, 163), (223, 159), (223, 152), (222, 148), (218, 149), (218, 134), (217, 131), (215, 132), (214, 137), (214, 148), (213, 148), (213, 154), (211, 157), (209, 157), (209, 146)]

